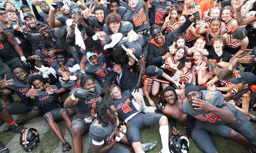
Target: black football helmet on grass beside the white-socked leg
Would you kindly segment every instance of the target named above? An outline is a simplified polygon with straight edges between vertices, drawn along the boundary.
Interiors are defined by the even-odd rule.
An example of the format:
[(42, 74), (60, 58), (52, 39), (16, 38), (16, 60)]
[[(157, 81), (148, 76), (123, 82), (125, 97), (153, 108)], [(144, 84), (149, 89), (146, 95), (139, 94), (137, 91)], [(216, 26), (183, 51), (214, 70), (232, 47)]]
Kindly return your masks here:
[(188, 153), (189, 139), (180, 134), (173, 136), (169, 141), (169, 150), (171, 153)]

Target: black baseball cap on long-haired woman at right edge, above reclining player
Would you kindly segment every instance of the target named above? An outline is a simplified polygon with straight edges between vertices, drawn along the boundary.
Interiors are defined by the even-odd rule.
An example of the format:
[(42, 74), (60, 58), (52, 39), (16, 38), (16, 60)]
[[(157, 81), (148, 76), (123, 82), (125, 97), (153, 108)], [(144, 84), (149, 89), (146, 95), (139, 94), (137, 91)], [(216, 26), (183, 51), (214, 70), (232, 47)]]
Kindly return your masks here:
[(230, 82), (233, 84), (238, 84), (238, 83), (253, 84), (255, 81), (256, 81), (256, 76), (251, 72), (243, 72), (243, 73), (240, 73), (237, 77), (233, 77), (230, 79)]

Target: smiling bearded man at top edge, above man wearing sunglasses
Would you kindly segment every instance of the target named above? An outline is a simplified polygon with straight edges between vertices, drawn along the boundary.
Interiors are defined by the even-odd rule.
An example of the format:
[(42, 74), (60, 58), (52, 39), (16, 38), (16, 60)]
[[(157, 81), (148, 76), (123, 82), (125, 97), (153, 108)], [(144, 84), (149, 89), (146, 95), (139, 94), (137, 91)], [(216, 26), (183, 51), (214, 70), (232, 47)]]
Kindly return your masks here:
[[(38, 21), (42, 21), (43, 23), (45, 23), (48, 26), (50, 26), (50, 24), (49, 24), (49, 11), (50, 11), (50, 7), (47, 4), (47, 2), (33, 0), (31, 2), (31, 5), (32, 5), (32, 10), (33, 10), (33, 12), (34, 12), (34, 14), (36, 16), (36, 19)], [(38, 12), (38, 10), (36, 9), (36, 5), (41, 8), (42, 12)]]

